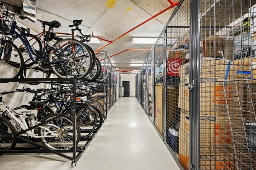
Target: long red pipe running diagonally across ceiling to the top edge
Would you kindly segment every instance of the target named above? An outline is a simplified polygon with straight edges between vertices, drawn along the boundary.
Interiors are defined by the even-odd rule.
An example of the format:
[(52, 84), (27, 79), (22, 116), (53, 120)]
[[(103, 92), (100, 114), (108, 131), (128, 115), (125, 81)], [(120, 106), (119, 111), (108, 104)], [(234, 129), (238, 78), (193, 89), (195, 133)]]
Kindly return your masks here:
[(131, 32), (131, 31), (133, 31), (134, 29), (138, 28), (140, 25), (143, 25), (144, 23), (146, 23), (146, 22), (152, 20), (153, 18), (156, 18), (157, 16), (159, 16), (160, 14), (166, 12), (167, 10), (170, 10), (171, 8), (177, 6), (180, 1), (178, 1), (178, 2), (172, 2), (172, 0), (168, 0), (168, 2), (171, 4), (168, 8), (166, 8), (166, 9), (164, 9), (164, 10), (161, 10), (161, 11), (158, 12), (156, 15), (150, 17), (148, 20), (146, 20), (146, 21), (140, 23), (139, 25), (133, 27), (133, 28), (130, 29), (129, 31), (126, 31), (125, 33), (123, 33), (122, 35), (120, 35), (119, 37), (117, 37), (116, 39), (114, 39), (114, 40), (112, 40), (112, 41), (108, 41), (107, 44), (105, 44), (105, 45), (103, 45), (102, 47), (96, 49), (95, 52), (99, 51), (100, 49), (103, 49), (104, 47), (106, 47), (106, 46), (108, 46), (108, 45), (110, 45), (111, 43), (113, 43), (113, 42), (116, 41), (117, 39), (121, 38), (122, 36), (126, 35), (127, 33), (129, 33), (129, 32)]

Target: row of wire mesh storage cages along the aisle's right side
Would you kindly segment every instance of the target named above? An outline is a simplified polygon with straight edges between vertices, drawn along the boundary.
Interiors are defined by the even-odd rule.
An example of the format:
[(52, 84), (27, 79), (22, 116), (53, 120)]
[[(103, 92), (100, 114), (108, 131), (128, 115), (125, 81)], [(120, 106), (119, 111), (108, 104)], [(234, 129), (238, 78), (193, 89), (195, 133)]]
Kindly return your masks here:
[(255, 16), (255, 0), (181, 0), (148, 55), (153, 122), (185, 170), (256, 169)]

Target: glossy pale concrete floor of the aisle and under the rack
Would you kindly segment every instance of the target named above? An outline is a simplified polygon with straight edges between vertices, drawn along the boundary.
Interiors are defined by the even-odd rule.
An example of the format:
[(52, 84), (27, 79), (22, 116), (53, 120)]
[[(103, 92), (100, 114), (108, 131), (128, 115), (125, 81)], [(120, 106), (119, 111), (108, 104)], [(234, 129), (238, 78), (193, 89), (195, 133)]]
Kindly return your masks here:
[[(68, 153), (71, 156), (72, 154)], [(120, 98), (78, 160), (55, 154), (3, 154), (1, 170), (180, 170), (136, 98)]]

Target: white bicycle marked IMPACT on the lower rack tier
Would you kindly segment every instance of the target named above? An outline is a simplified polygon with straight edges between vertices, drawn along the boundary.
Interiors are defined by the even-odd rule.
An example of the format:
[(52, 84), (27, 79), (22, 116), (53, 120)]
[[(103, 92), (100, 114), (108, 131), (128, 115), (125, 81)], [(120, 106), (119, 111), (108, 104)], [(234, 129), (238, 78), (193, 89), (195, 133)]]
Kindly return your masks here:
[[(6, 92), (0, 93), (7, 94)], [(40, 108), (47, 101), (30, 102)], [(39, 111), (40, 113), (40, 111)], [(14, 110), (4, 104), (0, 96), (0, 150), (10, 150), (16, 145), (16, 135), (40, 139), (45, 147), (68, 150), (73, 147), (73, 123), (67, 116), (54, 113), (36, 120), (38, 109)], [(57, 117), (57, 118), (56, 118)], [(46, 122), (46, 123), (44, 123)], [(42, 123), (42, 125), (39, 125)], [(15, 135), (16, 134), (16, 135)], [(80, 128), (76, 127), (76, 145), (80, 141)]]

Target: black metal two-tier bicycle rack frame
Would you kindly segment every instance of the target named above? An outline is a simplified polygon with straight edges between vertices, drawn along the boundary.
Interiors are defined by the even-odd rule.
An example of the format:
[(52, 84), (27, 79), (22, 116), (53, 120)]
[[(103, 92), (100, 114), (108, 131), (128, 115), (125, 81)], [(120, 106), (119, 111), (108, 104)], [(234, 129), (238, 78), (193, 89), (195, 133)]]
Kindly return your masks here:
[[(80, 79), (78, 80), (79, 81), (82, 81), (83, 83), (90, 83), (90, 84), (99, 84), (99, 83), (103, 83), (103, 84), (106, 84), (105, 82), (98, 82), (98, 81), (92, 81), (92, 82), (88, 82), (88, 80), (86, 79)], [(0, 83), (8, 83), (8, 82), (19, 82), (19, 83), (30, 83), (30, 82), (37, 82), (37, 83), (72, 83), (72, 90), (73, 90), (73, 95), (76, 96), (76, 83), (77, 83), (77, 79), (75, 78), (17, 78), (17, 79), (8, 79), (8, 78), (2, 78), (0, 79)], [(73, 136), (75, 136), (76, 134), (76, 98), (73, 98), (72, 100), (73, 102)], [(25, 137), (21, 137), (21, 136), (18, 136), (22, 133), (25, 133), (26, 131), (29, 131), (31, 129), (34, 129), (36, 127), (39, 127), (45, 123), (48, 123), (49, 121), (52, 121), (53, 119), (57, 119), (59, 118), (60, 116), (62, 115), (65, 115), (65, 114), (61, 114), (59, 116), (56, 116), (52, 119), (49, 119), (48, 121), (45, 121), (45, 122), (41, 122), (33, 127), (30, 127), (26, 130), (23, 130), (23, 131), (19, 131), (17, 132), (16, 134), (11, 134), (11, 133), (8, 133), (6, 131), (3, 131), (2, 129), (0, 129), (0, 132), (3, 132), (7, 135), (9, 135), (9, 137), (5, 138), (5, 139), (2, 139), (1, 141), (4, 141), (4, 140), (8, 140), (12, 137), (15, 137), (16, 139), (19, 139), (21, 141), (24, 141), (26, 143), (29, 143), (30, 145), (33, 145), (34, 147), (23, 147), (23, 148), (16, 148), (16, 150), (0, 150), (0, 155), (4, 154), (4, 153), (54, 153), (54, 154), (57, 154), (59, 156), (62, 156), (64, 158), (67, 158), (69, 160), (72, 160), (72, 166), (75, 167), (76, 166), (76, 162), (79, 160), (79, 158), (82, 156), (82, 153), (85, 151), (85, 149), (88, 147), (90, 141), (93, 139), (95, 133), (97, 131), (94, 131), (92, 133), (92, 135), (90, 137), (86, 137), (86, 138), (81, 138), (80, 141), (87, 141), (84, 146), (76, 146), (76, 138), (73, 138), (73, 147), (72, 149), (69, 149), (69, 150), (52, 150), (52, 149), (49, 149), (47, 147), (44, 147), (42, 145), (39, 145), (37, 144), (36, 142), (34, 141), (30, 141), (28, 139), (26, 139)], [(67, 156), (63, 153), (65, 152), (72, 152), (72, 156)]]

